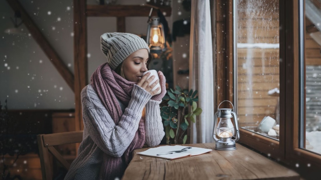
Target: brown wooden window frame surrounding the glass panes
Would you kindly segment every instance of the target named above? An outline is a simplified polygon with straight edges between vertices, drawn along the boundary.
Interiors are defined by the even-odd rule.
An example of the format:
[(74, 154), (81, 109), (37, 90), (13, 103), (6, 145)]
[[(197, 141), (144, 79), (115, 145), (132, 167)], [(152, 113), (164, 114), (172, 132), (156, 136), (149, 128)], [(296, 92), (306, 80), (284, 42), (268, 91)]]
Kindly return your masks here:
[[(233, 33), (236, 31), (235, 27), (230, 24), (234, 22), (233, 18), (236, 15), (231, 15), (229, 12), (234, 12), (233, 8), (236, 0), (218, 0), (217, 10), (222, 7), (222, 4), (227, 4), (226, 11), (218, 10), (218, 12), (225, 12), (225, 14), (218, 14), (219, 16), (225, 15), (225, 27), (221, 24), (221, 21), (216, 21), (216, 29), (225, 29), (226, 39), (233, 39)], [(279, 141), (264, 137), (255, 133), (252, 133), (245, 129), (239, 129), (240, 140), (239, 143), (261, 152), (262, 154), (271, 157), (274, 160), (280, 161), (282, 164), (298, 171), (304, 177), (316, 177), (320, 176), (321, 172), (321, 155), (318, 155), (308, 150), (301, 149), (300, 145), (304, 145), (305, 141), (300, 140), (299, 132), (305, 132), (305, 123), (301, 123), (301, 119), (305, 118), (305, 0), (299, 1), (287, 1), (279, 0), (279, 15), (280, 15), (280, 139)], [(220, 5), (220, 6), (218, 6)], [(233, 13), (232, 13), (233, 14)], [(301, 19), (299, 17), (301, 16)], [(221, 26), (221, 27), (220, 27)], [(301, 32), (301, 34), (299, 34)], [(220, 33), (217, 32), (217, 36)], [(303, 38), (303, 39), (302, 39)], [(237, 81), (237, 75), (234, 73), (235, 66), (235, 42), (226, 41), (226, 44), (219, 44), (217, 42), (217, 48), (226, 48), (226, 54), (229, 54), (227, 58), (217, 58), (217, 64), (224, 64), (226, 62), (226, 71), (224, 78), (217, 76), (217, 84), (224, 84), (225, 87), (221, 89), (226, 90), (226, 94), (221, 96), (222, 93), (216, 93), (216, 99), (230, 100), (233, 104), (237, 103), (237, 93), (235, 81)], [(300, 47), (302, 47), (300, 49)], [(302, 50), (302, 51), (299, 51)], [(233, 57), (233, 58), (231, 58)], [(300, 68), (301, 67), (301, 68)], [(217, 67), (217, 71), (220, 70)], [(222, 71), (222, 69), (221, 69)], [(230, 75), (229, 72), (233, 72)], [(228, 80), (228, 82), (227, 82)], [(299, 81), (301, 80), (301, 81)], [(227, 82), (227, 83), (226, 83)], [(231, 85), (230, 82), (233, 82)], [(303, 84), (302, 86), (300, 86)], [(231, 93), (233, 92), (233, 93)], [(225, 98), (225, 99), (224, 99)], [(302, 102), (302, 103), (300, 103)], [(217, 105), (216, 105), (217, 106)], [(303, 108), (303, 109), (302, 109)], [(300, 112), (300, 110), (302, 110)], [(305, 133), (301, 135), (305, 138)], [(310, 166), (308, 166), (310, 164)], [(299, 166), (298, 166), (299, 165)]]

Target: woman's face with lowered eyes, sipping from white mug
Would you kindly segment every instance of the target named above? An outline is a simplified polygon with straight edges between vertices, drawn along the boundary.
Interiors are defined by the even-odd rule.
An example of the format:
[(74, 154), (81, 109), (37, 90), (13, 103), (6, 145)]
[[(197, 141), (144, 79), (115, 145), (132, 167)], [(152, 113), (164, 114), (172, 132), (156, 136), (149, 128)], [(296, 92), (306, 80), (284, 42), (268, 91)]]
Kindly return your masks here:
[(123, 73), (125, 79), (138, 82), (145, 71), (147, 71), (148, 51), (140, 49), (133, 52), (123, 61)]

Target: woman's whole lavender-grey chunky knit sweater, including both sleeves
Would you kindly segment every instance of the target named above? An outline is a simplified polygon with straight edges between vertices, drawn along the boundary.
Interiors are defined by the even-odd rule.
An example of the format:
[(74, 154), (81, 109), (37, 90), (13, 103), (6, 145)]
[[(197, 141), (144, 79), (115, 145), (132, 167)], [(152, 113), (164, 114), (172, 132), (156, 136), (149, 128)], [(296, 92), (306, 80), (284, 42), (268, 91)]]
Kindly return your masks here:
[(142, 110), (146, 107), (145, 142), (153, 147), (164, 137), (160, 117), (161, 101), (150, 99), (149, 92), (134, 84), (132, 98), (123, 111), (118, 126), (108, 114), (91, 85), (81, 92), (83, 112), (83, 140), (78, 149), (78, 157), (73, 161), (65, 179), (99, 179), (103, 153), (120, 157), (134, 138)]

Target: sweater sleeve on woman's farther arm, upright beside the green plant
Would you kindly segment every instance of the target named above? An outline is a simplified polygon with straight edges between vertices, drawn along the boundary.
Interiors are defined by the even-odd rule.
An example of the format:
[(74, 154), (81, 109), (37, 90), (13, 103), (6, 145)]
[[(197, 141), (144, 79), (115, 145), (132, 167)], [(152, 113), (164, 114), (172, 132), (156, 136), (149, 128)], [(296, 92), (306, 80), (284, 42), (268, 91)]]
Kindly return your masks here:
[(146, 104), (146, 118), (145, 118), (145, 141), (149, 147), (160, 144), (165, 132), (160, 116), (161, 101), (149, 100)]

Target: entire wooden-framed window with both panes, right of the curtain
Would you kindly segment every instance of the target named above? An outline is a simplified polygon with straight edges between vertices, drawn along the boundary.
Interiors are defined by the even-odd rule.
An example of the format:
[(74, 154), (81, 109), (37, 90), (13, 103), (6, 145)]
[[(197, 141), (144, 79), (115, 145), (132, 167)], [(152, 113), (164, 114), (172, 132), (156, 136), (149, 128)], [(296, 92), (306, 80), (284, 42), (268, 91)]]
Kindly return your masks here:
[[(225, 11), (219, 10), (225, 3)], [(217, 72), (217, 85), (226, 89), (223, 98), (232, 96), (236, 104), (239, 142), (307, 178), (320, 176), (321, 2), (221, 0), (216, 5), (222, 12), (217, 19), (226, 17), (225, 25), (217, 21), (217, 33), (233, 32), (226, 34), (232, 42), (216, 43), (218, 51), (227, 50), (225, 59), (216, 59), (217, 70), (226, 67), (223, 75)], [(272, 125), (259, 128), (266, 117)]]

